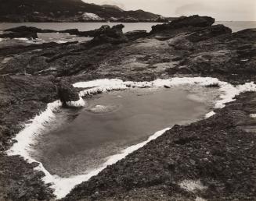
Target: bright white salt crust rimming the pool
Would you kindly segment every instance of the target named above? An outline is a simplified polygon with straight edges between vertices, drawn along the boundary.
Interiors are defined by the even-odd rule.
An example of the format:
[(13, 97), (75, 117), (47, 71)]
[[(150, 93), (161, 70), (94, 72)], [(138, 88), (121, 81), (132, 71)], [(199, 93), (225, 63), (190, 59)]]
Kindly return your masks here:
[[(86, 95), (92, 95), (96, 93), (106, 93), (111, 90), (126, 90), (131, 88), (160, 88), (160, 87), (174, 87), (179, 85), (198, 85), (198, 86), (210, 86), (210, 85), (218, 85), (218, 90), (222, 92), (220, 96), (220, 100), (216, 101), (215, 108), (224, 108), (225, 103), (234, 101), (234, 97), (239, 95), (240, 93), (246, 91), (256, 91), (256, 85), (252, 83), (245, 83), (239, 86), (233, 86), (230, 83), (222, 82), (217, 78), (211, 77), (183, 77), (183, 78), (171, 78), (171, 79), (156, 79), (152, 82), (124, 82), (121, 79), (96, 79), (88, 82), (75, 83), (74, 87), (78, 88), (87, 88), (87, 90), (82, 90), (80, 92), (80, 100), (75, 102), (70, 102), (69, 104), (74, 107), (84, 107), (85, 100), (82, 97)], [(167, 130), (171, 128), (166, 128), (154, 133), (149, 137), (146, 141), (129, 146), (127, 149), (123, 150), (121, 153), (108, 157), (106, 163), (102, 165), (101, 168), (96, 168), (88, 172), (85, 175), (76, 175), (71, 176), (70, 178), (61, 178), (58, 175), (51, 175), (49, 171), (47, 171), (43, 164), (39, 161), (34, 160), (30, 156), (30, 150), (32, 149), (31, 144), (33, 144), (34, 140), (41, 132), (45, 129), (45, 125), (49, 124), (52, 119), (56, 116), (54, 111), (56, 111), (61, 106), (59, 100), (56, 100), (47, 105), (45, 111), (42, 111), (40, 115), (35, 116), (31, 119), (31, 123), (27, 123), (24, 125), (24, 129), (21, 130), (16, 137), (13, 139), (16, 140), (16, 143), (6, 151), (9, 156), (20, 155), (27, 160), (28, 163), (38, 162), (38, 167), (34, 168), (36, 171), (43, 171), (45, 173), (45, 177), (42, 180), (45, 183), (51, 183), (51, 188), (54, 189), (54, 194), (57, 199), (63, 198), (66, 196), (71, 189), (74, 188), (75, 185), (80, 184), (81, 182), (88, 181), (92, 176), (98, 175), (100, 171), (103, 171), (108, 165), (117, 163), (118, 160), (123, 159), (129, 153), (138, 150), (142, 146), (145, 146), (153, 139), (157, 139), (157, 137), (161, 136)], [(209, 112), (205, 115), (205, 118), (209, 118), (212, 115), (215, 115), (214, 111)]]

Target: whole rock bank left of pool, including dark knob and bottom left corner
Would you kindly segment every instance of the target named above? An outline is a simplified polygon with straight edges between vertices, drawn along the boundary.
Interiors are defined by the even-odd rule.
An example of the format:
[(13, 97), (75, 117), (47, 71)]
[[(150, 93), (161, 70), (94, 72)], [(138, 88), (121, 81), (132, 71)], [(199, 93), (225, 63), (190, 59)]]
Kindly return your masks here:
[(41, 178), (21, 157), (7, 157), (5, 150), (23, 123), (45, 110), (48, 103), (60, 99), (78, 100), (70, 83), (54, 76), (0, 76), (0, 200), (49, 200), (54, 196)]

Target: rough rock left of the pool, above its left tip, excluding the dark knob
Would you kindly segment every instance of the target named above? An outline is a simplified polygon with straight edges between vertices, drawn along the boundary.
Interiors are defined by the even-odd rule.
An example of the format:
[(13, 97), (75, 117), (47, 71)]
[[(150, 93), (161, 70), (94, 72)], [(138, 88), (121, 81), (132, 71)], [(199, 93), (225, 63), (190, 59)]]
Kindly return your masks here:
[(53, 76), (0, 76), (0, 149), (21, 128), (22, 122), (38, 115), (46, 104), (56, 100)]

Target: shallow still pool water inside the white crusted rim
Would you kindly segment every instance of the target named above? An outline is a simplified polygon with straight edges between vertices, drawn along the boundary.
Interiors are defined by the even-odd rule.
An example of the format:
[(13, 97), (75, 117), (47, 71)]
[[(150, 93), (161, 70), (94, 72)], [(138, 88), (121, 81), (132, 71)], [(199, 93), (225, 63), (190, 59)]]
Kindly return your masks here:
[(83, 109), (60, 109), (31, 156), (52, 175), (99, 168), (107, 157), (161, 129), (195, 122), (214, 105), (217, 89), (177, 87), (113, 91), (88, 98)]

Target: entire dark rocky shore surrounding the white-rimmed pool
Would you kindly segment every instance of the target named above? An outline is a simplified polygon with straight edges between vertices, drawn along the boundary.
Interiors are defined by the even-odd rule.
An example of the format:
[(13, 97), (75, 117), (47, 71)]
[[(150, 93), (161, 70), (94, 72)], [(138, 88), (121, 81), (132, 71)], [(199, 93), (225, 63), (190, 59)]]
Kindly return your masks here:
[[(0, 200), (54, 199), (49, 185), (41, 182), (41, 172), (33, 171), (37, 164), (8, 157), (5, 150), (15, 143), (11, 139), (23, 123), (49, 102), (78, 99), (71, 83), (175, 76), (211, 76), (234, 85), (254, 82), (256, 30), (232, 33), (214, 22), (210, 17), (182, 17), (153, 26), (150, 33), (125, 34), (121, 25), (103, 26), (84, 43), (0, 48)], [(211, 118), (176, 125), (78, 185), (64, 200), (256, 199), (254, 96), (240, 94)], [(205, 188), (186, 190), (179, 185), (184, 181), (200, 181)]]

